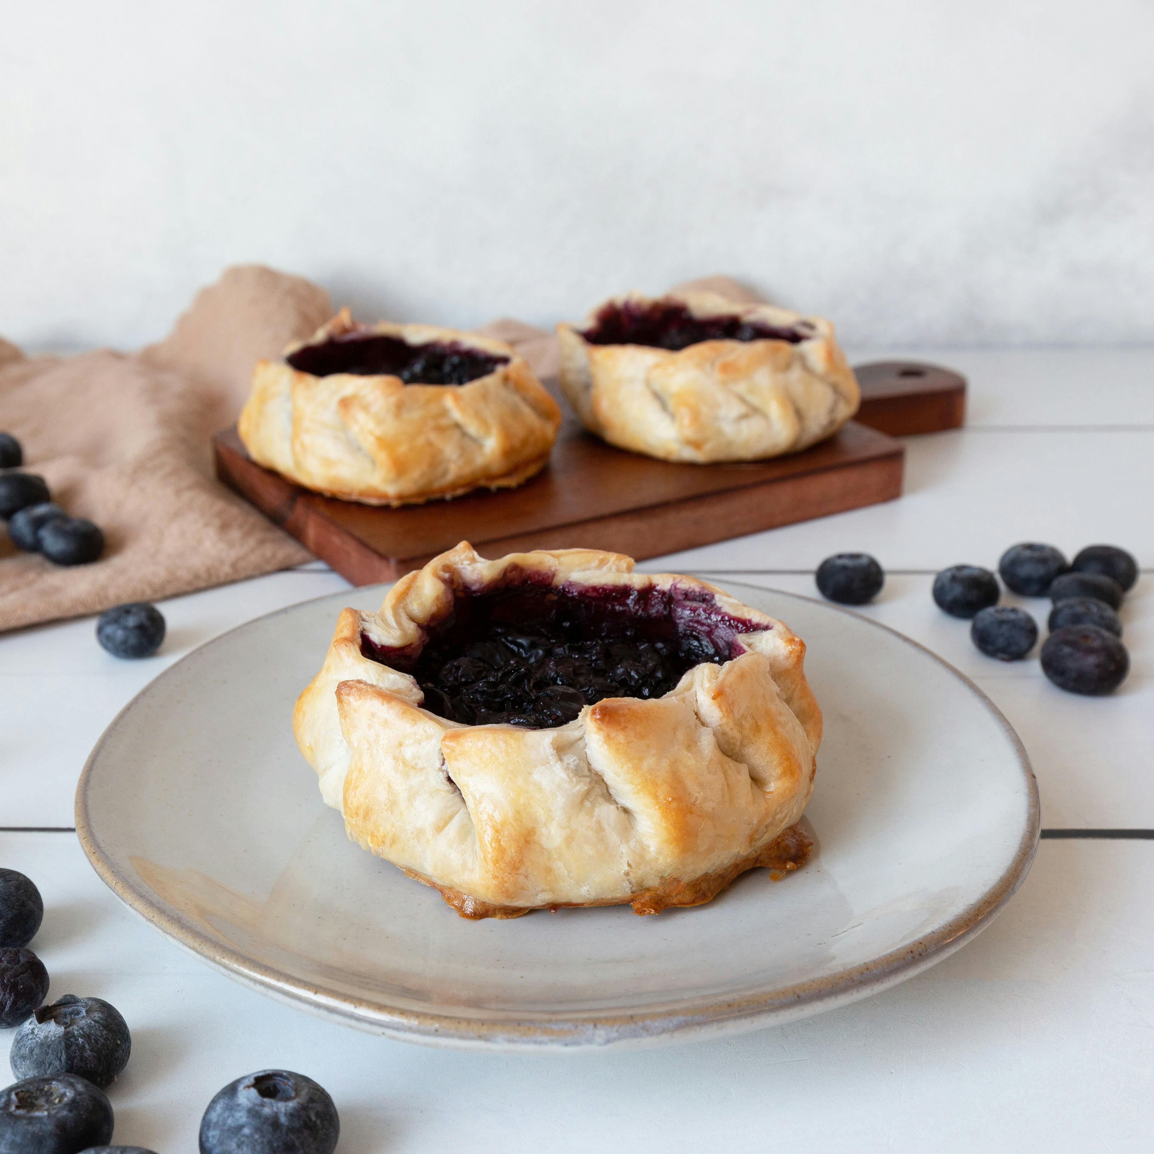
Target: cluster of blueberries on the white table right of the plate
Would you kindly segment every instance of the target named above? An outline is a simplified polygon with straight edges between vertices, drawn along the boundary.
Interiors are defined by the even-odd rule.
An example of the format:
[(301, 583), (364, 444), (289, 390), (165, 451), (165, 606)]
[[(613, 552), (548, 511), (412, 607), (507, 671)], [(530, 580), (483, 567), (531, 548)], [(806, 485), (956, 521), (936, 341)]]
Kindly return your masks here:
[[(1042, 645), (1042, 672), (1073, 694), (1112, 692), (1130, 672), (1117, 609), (1138, 579), (1134, 559), (1112, 545), (1091, 545), (1072, 562), (1052, 545), (1024, 542), (1002, 555), (998, 574), (1022, 597), (1054, 604)], [(974, 645), (988, 657), (1016, 661), (1037, 640), (1037, 623), (1024, 609), (998, 605), (997, 577), (977, 565), (951, 565), (934, 579), (934, 600), (951, 616), (969, 619)]]

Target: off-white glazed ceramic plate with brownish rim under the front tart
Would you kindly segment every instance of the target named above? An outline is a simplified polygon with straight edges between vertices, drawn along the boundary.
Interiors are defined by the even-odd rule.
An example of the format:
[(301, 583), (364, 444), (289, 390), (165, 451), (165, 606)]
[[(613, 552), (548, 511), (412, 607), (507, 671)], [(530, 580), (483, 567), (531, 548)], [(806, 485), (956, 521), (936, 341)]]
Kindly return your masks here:
[(817, 852), (706, 906), (470, 922), (345, 837), (297, 750), (293, 702), (338, 610), (261, 617), (189, 653), (112, 722), (76, 825), (133, 909), (265, 994), (394, 1037), (496, 1049), (755, 1029), (912, 977), (989, 924), (1029, 868), (1037, 787), (1016, 734), (929, 651), (842, 609), (727, 583), (808, 645), (825, 714)]

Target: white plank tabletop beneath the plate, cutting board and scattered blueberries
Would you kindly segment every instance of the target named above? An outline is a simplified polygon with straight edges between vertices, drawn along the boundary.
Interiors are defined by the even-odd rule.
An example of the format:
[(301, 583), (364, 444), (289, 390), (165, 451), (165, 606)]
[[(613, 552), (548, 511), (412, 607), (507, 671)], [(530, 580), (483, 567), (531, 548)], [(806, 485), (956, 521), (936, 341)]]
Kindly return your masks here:
[[(908, 442), (900, 501), (647, 567), (812, 595), (824, 556), (874, 553), (889, 578), (862, 612), (957, 665), (1006, 713), (1037, 771), (1043, 825), (1154, 827), (1154, 350), (921, 355), (969, 375), (972, 424)], [(1071, 553), (1114, 541), (1138, 556), (1146, 571), (1123, 610), (1132, 673), (1117, 695), (1058, 692), (1036, 651), (987, 660), (966, 623), (934, 607), (934, 570), (992, 565), (1018, 540)], [(170, 639), (142, 662), (105, 655), (90, 619), (0, 637), (0, 826), (72, 825), (90, 747), (149, 679), (233, 625), (343, 587), (314, 564), (173, 599)], [(1047, 602), (1021, 604), (1044, 617)], [(561, 1058), (426, 1050), (277, 1005), (151, 932), (70, 834), (0, 833), (0, 864), (44, 892), (35, 946), (53, 995), (106, 997), (133, 1026), (117, 1140), (160, 1154), (193, 1151), (212, 1093), (265, 1065), (330, 1089), (340, 1154), (1154, 1146), (1152, 841), (1043, 841), (989, 931), (863, 1004), (728, 1042)]]

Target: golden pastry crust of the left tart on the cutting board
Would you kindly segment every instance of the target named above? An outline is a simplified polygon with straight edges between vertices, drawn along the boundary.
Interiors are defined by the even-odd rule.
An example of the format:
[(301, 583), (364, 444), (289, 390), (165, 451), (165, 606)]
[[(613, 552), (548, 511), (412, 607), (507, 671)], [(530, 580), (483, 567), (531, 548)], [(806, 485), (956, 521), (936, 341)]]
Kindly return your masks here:
[(507, 358), (467, 384), (404, 384), (391, 375), (314, 376), (261, 361), (238, 432), (249, 456), (298, 485), (366, 504), (414, 504), (520, 485), (549, 459), (561, 410), (500, 340), (430, 324), (358, 325), (343, 309), (285, 350), (357, 332), (409, 345), (454, 344)]

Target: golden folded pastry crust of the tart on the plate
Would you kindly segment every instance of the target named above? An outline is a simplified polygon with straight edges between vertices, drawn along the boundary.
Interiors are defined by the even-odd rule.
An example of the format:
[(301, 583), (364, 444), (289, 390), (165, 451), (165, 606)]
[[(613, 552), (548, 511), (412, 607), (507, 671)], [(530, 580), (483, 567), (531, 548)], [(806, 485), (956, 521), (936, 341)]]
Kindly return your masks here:
[[(803, 861), (808, 839), (790, 830), (822, 739), (804, 643), (712, 585), (632, 565), (590, 549), (486, 561), (463, 542), (376, 613), (342, 610), (293, 730), (349, 835), (471, 917), (615, 902), (654, 913), (707, 901), (743, 869)], [(421, 707), (412, 676), (362, 652), (417, 654), (457, 597), (526, 582), (669, 591), (749, 631), (662, 697), (604, 698), (542, 729), (445, 720)]]

